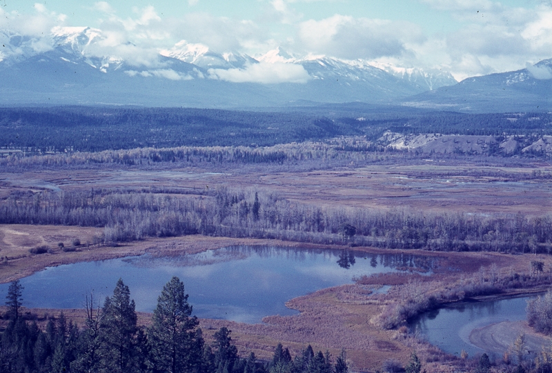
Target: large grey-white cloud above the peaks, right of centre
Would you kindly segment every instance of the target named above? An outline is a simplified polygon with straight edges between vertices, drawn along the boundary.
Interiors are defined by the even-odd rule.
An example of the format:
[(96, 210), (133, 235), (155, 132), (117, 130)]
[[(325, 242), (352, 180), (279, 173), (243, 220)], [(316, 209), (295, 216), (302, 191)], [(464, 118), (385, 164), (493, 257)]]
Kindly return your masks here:
[(399, 56), (408, 42), (422, 42), (420, 27), (404, 21), (333, 17), (304, 21), (299, 37), (308, 52), (346, 59)]

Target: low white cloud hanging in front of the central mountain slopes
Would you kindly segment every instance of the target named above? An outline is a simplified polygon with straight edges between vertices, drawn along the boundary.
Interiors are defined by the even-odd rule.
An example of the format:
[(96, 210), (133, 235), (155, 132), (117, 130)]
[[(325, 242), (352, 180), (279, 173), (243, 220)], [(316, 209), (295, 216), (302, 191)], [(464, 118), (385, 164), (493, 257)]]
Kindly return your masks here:
[(210, 79), (233, 83), (306, 83), (310, 76), (302, 65), (290, 63), (252, 63), (245, 69), (210, 69)]

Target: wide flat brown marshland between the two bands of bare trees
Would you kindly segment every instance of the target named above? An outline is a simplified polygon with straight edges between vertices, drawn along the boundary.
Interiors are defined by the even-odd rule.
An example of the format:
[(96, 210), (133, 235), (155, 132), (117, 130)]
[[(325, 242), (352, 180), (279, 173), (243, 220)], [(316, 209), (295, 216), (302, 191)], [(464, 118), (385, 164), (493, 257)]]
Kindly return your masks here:
[(290, 201), (318, 206), (548, 214), (552, 207), (552, 179), (537, 179), (531, 174), (552, 172), (552, 166), (527, 160), (503, 163), (421, 160), (413, 164), (315, 171), (286, 170), (274, 165), (261, 170), (259, 166), (241, 165), (215, 170), (218, 172), (210, 168), (21, 170), (0, 172), (0, 198), (14, 191), (45, 189), (199, 191), (227, 187), (275, 192)]

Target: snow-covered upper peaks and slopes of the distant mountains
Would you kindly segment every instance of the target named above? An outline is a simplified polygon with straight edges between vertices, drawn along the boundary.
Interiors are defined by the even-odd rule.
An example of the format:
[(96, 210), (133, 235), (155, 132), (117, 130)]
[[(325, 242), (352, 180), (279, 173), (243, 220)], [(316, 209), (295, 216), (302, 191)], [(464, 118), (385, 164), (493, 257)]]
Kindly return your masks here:
[[(17, 35), (12, 36), (6, 33), (0, 35), (0, 37), (5, 41), (4, 44), (8, 46), (3, 51), (3, 54), (0, 54), (0, 57), (6, 60), (6, 62), (2, 63), (3, 66), (13, 65), (41, 53), (41, 50), (36, 46), (36, 41), (26, 40), (23, 37), (19, 37), (18, 39)], [(385, 92), (386, 94), (382, 97), (384, 99), (388, 98), (387, 93), (391, 92), (395, 92), (400, 96), (406, 96), (433, 88), (433, 81), (431, 81), (431, 77), (428, 74), (424, 77), (426, 81), (431, 81), (431, 85), (424, 85), (413, 81), (411, 77), (404, 79), (404, 77), (400, 77), (397, 74), (389, 74), (380, 68), (362, 61), (344, 61), (315, 55), (295, 57), (281, 48), (269, 51), (257, 60), (246, 54), (235, 52), (217, 53), (203, 44), (188, 43), (186, 41), (180, 41), (170, 49), (159, 50), (159, 61), (157, 61), (159, 66), (153, 69), (155, 72), (152, 72), (152, 68), (140, 67), (136, 63), (128, 66), (127, 61), (123, 57), (112, 54), (113, 50), (109, 50), (110, 53), (106, 52), (106, 49), (103, 48), (105, 41), (106, 37), (99, 29), (88, 27), (55, 27), (52, 28), (50, 42), (42, 46), (42, 49), (44, 51), (63, 50), (66, 55), (60, 58), (75, 63), (87, 63), (104, 73), (115, 70), (128, 70), (128, 74), (132, 77), (136, 74), (141, 74), (145, 77), (155, 76), (168, 79), (184, 77), (181, 74), (172, 74), (168, 71), (172, 69), (170, 65), (175, 65), (175, 61), (172, 60), (195, 65), (199, 68), (195, 76), (188, 74), (186, 75), (186, 79), (213, 77), (213, 75), (206, 74), (206, 71), (209, 69), (248, 70), (250, 66), (256, 65), (260, 61), (265, 63), (265, 65), (255, 70), (257, 74), (259, 74), (257, 70), (269, 68), (270, 64), (290, 63), (302, 66), (312, 80), (333, 80), (339, 82), (339, 85), (369, 85), (371, 89)], [(190, 68), (180, 67), (186, 71), (190, 71)], [(281, 69), (276, 69), (275, 71), (279, 70)], [(270, 71), (266, 72), (266, 74), (270, 74)], [(219, 73), (218, 75), (222, 74)], [(302, 82), (306, 80), (301, 79)], [(270, 80), (264, 79), (262, 81)], [(351, 96), (349, 99), (354, 99), (354, 97)], [(359, 97), (359, 99), (362, 100), (363, 98)]]

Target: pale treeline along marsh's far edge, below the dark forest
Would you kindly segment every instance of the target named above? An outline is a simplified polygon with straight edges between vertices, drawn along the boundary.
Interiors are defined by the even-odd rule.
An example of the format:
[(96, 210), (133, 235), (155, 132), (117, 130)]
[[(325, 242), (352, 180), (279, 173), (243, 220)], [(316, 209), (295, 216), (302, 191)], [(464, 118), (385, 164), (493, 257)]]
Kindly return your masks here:
[[(32, 151), (30, 152), (32, 154)], [(214, 166), (219, 168), (236, 164), (276, 164), (299, 167), (313, 165), (350, 165), (372, 163), (388, 159), (391, 155), (417, 157), (402, 150), (386, 148), (366, 141), (364, 137), (348, 137), (324, 143), (291, 143), (270, 147), (178, 147), (178, 148), (136, 148), (131, 150), (106, 150), (103, 152), (52, 153), (27, 156), (25, 152), (8, 152), (0, 157), (0, 165), (14, 168), (71, 167), (75, 165), (127, 165), (137, 167), (167, 167), (170, 165)]]

